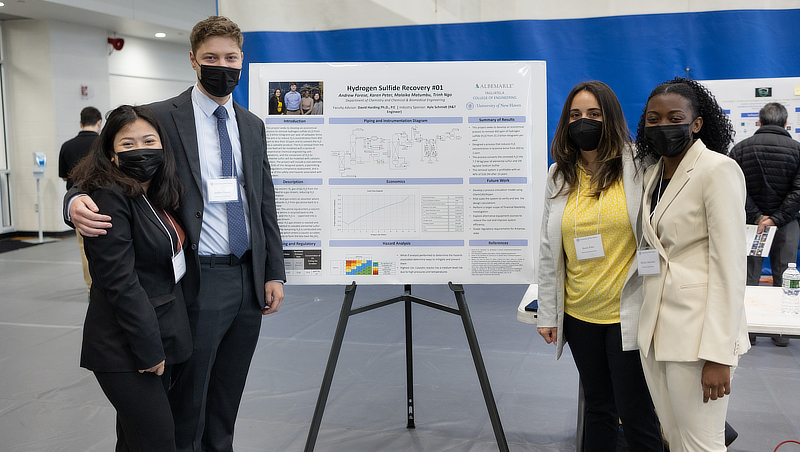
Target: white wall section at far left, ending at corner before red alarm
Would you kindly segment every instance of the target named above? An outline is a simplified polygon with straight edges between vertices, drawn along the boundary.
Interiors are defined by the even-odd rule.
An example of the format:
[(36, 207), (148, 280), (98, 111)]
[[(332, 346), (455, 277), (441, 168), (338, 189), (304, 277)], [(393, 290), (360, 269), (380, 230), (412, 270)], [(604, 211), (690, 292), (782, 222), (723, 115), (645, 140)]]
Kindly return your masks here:
[[(61, 143), (80, 130), (80, 111), (89, 105), (108, 108), (106, 31), (55, 21), (17, 20), (3, 25), (11, 204), (16, 230), (39, 229), (33, 152), (47, 156), (40, 181), (42, 225), (63, 231), (58, 177)], [(81, 99), (81, 85), (94, 97)]]

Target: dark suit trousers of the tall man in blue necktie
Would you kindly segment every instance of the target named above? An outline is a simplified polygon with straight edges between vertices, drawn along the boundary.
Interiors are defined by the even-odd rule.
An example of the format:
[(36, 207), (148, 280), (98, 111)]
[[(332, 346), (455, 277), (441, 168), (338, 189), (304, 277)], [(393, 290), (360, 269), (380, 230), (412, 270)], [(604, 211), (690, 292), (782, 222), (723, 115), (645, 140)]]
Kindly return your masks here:
[[(169, 398), (178, 451), (230, 452), (239, 403), (261, 329), (249, 261), (201, 264), (187, 300), (192, 356), (173, 372)], [(262, 289), (263, 290), (263, 289)]]

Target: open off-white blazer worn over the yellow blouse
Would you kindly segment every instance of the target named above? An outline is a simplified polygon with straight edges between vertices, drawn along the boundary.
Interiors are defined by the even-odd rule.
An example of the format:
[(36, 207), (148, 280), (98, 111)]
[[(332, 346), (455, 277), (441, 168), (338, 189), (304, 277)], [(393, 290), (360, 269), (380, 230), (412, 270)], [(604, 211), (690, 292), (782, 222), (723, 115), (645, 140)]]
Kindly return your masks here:
[[(539, 311), (537, 327), (558, 328), (556, 359), (561, 357), (564, 349), (564, 278), (566, 275), (566, 259), (561, 239), (561, 218), (567, 206), (566, 195), (553, 198), (559, 188), (561, 179), (555, 180), (553, 174), (556, 165), (550, 166), (547, 175), (547, 188), (542, 214), (542, 229), (539, 239)], [(629, 147), (622, 154), (622, 185), (625, 190), (628, 219), (638, 243), (642, 236), (642, 172), (638, 171), (633, 161), (633, 153)], [(636, 329), (639, 326), (639, 309), (642, 305), (642, 279), (637, 273), (634, 263), (628, 269), (628, 276), (620, 294), (620, 327), (622, 329), (622, 349), (636, 350)]]

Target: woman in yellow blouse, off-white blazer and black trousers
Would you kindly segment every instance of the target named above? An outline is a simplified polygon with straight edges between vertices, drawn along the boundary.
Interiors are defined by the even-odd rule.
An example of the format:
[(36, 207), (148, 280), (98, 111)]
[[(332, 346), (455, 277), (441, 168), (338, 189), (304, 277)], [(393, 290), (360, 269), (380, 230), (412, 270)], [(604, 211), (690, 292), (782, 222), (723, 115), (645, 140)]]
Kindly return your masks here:
[(584, 388), (585, 451), (616, 450), (619, 419), (631, 450), (663, 449), (636, 350), (642, 303), (636, 244), (641, 172), (617, 97), (576, 86), (551, 146), (539, 250), (538, 331), (570, 344)]

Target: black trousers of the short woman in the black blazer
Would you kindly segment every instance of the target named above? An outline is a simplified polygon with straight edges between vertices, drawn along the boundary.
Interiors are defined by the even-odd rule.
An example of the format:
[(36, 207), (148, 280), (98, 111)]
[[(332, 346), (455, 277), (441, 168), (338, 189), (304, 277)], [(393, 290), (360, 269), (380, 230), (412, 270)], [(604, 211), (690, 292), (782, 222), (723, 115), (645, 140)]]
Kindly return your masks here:
[(117, 452), (175, 450), (175, 424), (167, 400), (169, 375), (168, 370), (160, 377), (136, 371), (94, 373), (117, 410)]

